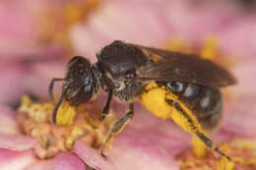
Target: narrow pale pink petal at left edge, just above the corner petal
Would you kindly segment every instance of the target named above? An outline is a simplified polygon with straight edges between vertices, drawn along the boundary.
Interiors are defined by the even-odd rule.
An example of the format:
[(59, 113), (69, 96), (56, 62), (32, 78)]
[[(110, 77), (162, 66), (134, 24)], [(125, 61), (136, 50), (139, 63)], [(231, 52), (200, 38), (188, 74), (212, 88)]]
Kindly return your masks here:
[(0, 147), (11, 150), (26, 150), (32, 148), (36, 141), (23, 135), (0, 134)]

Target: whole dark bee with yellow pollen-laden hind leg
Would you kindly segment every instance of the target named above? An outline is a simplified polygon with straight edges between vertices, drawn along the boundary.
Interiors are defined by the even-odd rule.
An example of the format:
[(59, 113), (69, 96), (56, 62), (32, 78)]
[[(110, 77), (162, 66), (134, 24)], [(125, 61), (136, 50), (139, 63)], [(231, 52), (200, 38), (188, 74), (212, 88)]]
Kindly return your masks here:
[(102, 144), (101, 155), (115, 135), (134, 117), (134, 102), (141, 103), (163, 119), (171, 118), (185, 131), (199, 138), (208, 147), (230, 159), (205, 131), (220, 124), (223, 99), (220, 88), (235, 84), (224, 68), (196, 55), (171, 52), (115, 40), (96, 54), (97, 62), (73, 57), (66, 67), (64, 79), (52, 79), (49, 85), (63, 81), (62, 93), (53, 111), (53, 122), (65, 99), (78, 106), (96, 97), (99, 91), (108, 93), (100, 120), (109, 113), (112, 97), (127, 103), (128, 112), (111, 127)]

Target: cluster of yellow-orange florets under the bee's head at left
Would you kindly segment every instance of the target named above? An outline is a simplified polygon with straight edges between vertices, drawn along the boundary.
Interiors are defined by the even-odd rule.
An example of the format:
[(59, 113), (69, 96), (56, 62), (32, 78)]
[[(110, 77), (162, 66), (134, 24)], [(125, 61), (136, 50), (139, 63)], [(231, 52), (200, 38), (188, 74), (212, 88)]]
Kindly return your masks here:
[[(90, 108), (88, 112), (85, 111), (87, 107)], [(93, 116), (101, 112), (94, 103), (83, 105), (83, 109), (79, 111), (63, 102), (57, 114), (57, 125), (62, 127), (52, 123), (54, 108), (52, 103), (33, 102), (28, 96), (22, 99), (17, 120), (22, 132), (37, 140), (33, 148), (37, 157), (45, 159), (60, 151), (72, 151), (77, 139), (96, 148), (102, 144), (110, 122), (108, 119), (100, 122)], [(109, 116), (111, 117), (111, 114)]]

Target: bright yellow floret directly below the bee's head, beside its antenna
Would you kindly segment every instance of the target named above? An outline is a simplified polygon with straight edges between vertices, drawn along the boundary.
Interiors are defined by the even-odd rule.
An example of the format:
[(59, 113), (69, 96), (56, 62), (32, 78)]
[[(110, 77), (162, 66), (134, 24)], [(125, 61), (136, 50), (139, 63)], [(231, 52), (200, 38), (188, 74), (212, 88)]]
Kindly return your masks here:
[(67, 102), (63, 102), (57, 113), (56, 124), (58, 126), (71, 126), (74, 123), (75, 116), (75, 108), (70, 106)]

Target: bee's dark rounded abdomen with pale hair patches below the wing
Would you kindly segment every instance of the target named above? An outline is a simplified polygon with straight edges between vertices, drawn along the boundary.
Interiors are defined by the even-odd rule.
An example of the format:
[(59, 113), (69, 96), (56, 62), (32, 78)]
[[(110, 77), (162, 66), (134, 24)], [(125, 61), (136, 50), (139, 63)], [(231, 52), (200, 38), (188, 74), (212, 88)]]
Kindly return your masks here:
[(159, 83), (187, 104), (205, 130), (215, 129), (222, 120), (223, 99), (218, 88), (180, 82)]

